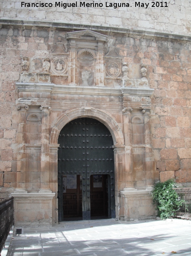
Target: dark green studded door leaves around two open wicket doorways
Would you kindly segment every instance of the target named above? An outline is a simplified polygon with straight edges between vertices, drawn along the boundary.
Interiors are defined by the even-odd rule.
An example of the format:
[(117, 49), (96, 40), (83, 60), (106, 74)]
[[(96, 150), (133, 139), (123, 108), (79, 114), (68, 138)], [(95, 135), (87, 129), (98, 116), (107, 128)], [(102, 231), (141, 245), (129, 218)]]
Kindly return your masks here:
[[(115, 218), (113, 139), (107, 127), (91, 118), (78, 118), (58, 138), (58, 220), (63, 220), (63, 177), (81, 175), (82, 217), (90, 220), (90, 176), (108, 175), (108, 216)], [(70, 177), (70, 176), (67, 176)]]

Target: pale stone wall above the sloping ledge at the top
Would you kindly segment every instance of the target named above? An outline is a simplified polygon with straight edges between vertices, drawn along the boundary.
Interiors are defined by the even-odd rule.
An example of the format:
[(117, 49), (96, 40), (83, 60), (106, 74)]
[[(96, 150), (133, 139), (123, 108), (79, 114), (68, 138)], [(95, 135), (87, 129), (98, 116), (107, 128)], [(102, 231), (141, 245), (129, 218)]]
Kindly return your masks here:
[[(23, 0), (2, 0), (0, 3), (0, 19), (50, 21), (60, 23), (74, 23), (82, 25), (110, 26), (156, 32), (191, 35), (191, 1), (190, 0), (165, 0), (168, 7), (156, 7), (155, 0), (147, 1), (115, 1), (110, 3), (129, 3), (129, 7), (106, 7), (105, 0), (85, 1), (87, 4), (103, 3), (103, 7), (55, 7), (55, 0), (41, 1), (52, 3), (52, 7), (21, 7)], [(39, 1), (26, 1), (26, 3)], [(62, 1), (60, 1), (61, 3)], [(63, 3), (76, 3), (76, 0), (63, 1)], [(84, 1), (81, 1), (84, 2)], [(135, 7), (135, 2), (140, 2), (140, 7)], [(152, 7), (154, 2), (154, 7)], [(161, 1), (159, 1), (161, 2)], [(144, 3), (144, 7), (141, 4)], [(148, 8), (146, 4), (149, 3)], [(107, 4), (108, 5), (108, 4)], [(165, 5), (165, 4), (163, 4)]]

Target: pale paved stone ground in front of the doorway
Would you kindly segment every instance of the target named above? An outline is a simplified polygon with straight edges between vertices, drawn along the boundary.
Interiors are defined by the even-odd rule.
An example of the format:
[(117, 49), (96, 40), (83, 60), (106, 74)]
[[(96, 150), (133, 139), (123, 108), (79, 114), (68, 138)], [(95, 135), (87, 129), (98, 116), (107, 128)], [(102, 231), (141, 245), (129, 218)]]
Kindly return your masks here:
[(191, 221), (92, 220), (52, 228), (24, 228), (8, 256), (191, 255)]

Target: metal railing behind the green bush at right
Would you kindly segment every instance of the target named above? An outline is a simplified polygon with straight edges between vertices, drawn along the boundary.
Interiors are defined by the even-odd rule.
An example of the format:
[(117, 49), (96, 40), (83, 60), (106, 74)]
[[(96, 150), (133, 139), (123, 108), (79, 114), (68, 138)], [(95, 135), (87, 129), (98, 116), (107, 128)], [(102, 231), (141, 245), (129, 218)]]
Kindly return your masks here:
[(185, 200), (178, 210), (176, 217), (191, 219), (191, 188), (174, 188), (181, 200)]

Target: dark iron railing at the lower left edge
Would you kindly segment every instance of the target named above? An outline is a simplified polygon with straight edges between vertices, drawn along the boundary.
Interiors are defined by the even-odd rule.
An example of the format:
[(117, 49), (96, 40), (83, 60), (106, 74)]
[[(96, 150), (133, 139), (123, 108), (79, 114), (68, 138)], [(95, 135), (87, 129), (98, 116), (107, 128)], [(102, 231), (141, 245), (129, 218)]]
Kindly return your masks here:
[(0, 201), (0, 252), (13, 225), (13, 197)]

